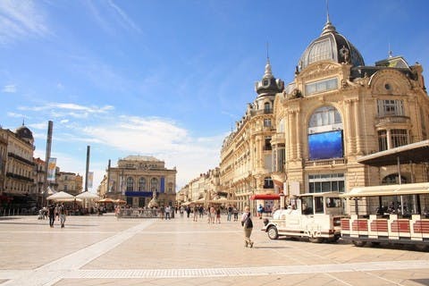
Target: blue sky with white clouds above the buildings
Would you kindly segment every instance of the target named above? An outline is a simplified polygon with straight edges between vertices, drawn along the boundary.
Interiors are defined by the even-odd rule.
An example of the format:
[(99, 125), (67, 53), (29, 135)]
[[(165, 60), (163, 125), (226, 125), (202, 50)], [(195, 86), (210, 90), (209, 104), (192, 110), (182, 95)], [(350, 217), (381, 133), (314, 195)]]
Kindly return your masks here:
[[(363, 55), (389, 46), (429, 69), (429, 2), (332, 0), (332, 24)], [(109, 159), (156, 156), (181, 188), (220, 161), (224, 137), (256, 98), (266, 43), (286, 83), (326, 21), (324, 0), (0, 1), (0, 125), (22, 120), (45, 158), (90, 171)], [(427, 74), (427, 71), (424, 71)], [(426, 80), (427, 82), (427, 80)]]

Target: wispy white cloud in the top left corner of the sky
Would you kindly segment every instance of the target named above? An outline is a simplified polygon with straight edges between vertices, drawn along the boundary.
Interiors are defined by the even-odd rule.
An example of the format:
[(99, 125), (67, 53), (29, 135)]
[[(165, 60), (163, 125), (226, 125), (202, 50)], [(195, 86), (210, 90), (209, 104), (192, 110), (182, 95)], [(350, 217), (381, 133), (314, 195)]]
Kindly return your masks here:
[(43, 37), (48, 32), (45, 17), (35, 2), (0, 1), (0, 44), (30, 36)]

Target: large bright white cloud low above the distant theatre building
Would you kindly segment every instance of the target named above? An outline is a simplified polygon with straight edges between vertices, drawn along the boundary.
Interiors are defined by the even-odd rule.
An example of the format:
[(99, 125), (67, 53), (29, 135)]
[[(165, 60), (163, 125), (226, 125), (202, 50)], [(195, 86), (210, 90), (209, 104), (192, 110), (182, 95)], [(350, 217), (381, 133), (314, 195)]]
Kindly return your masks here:
[[(121, 151), (122, 154), (143, 154), (164, 160), (167, 167), (177, 167), (177, 184), (183, 186), (219, 164), (224, 135), (193, 138), (176, 122), (161, 118), (119, 116), (118, 121), (85, 127), (88, 139)], [(88, 140), (84, 139), (84, 140)]]

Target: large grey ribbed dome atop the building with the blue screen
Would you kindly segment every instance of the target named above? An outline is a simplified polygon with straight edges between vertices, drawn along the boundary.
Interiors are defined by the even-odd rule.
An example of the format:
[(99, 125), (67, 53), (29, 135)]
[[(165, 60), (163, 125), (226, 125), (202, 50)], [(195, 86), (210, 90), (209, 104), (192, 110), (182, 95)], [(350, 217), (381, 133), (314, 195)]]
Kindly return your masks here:
[(329, 21), (329, 15), (319, 38), (316, 38), (304, 54), (301, 55), (298, 71), (304, 70), (311, 63), (330, 60), (336, 63), (350, 63), (353, 66), (365, 65), (364, 58), (347, 38), (337, 32)]

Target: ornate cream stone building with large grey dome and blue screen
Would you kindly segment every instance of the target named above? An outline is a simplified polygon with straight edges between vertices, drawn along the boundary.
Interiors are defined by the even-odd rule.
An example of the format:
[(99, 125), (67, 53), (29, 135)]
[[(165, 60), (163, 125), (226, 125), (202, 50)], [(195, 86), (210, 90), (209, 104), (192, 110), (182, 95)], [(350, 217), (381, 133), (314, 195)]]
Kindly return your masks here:
[(424, 164), (383, 168), (359, 158), (428, 139), (423, 68), (389, 55), (374, 65), (328, 20), (275, 97), (273, 181), (285, 194), (428, 181)]

